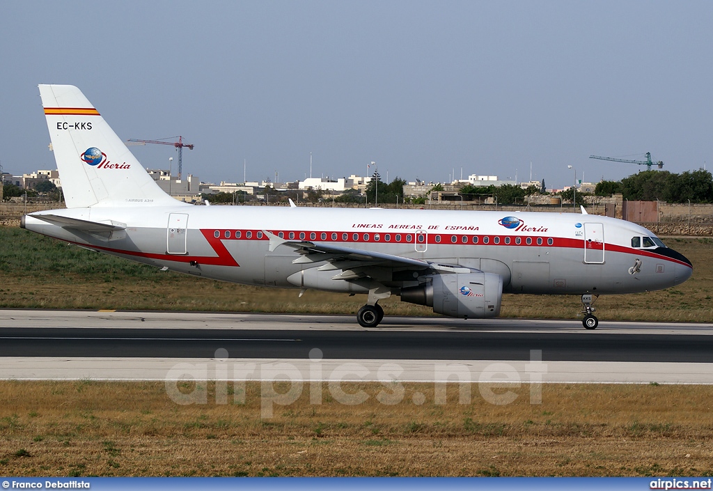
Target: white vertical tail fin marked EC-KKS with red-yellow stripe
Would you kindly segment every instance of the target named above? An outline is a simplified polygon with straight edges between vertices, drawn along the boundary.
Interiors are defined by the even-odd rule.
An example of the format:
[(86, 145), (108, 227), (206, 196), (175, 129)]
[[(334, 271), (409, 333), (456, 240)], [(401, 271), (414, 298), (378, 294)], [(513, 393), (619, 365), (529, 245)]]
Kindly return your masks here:
[(158, 187), (78, 88), (39, 89), (68, 208), (179, 203)]

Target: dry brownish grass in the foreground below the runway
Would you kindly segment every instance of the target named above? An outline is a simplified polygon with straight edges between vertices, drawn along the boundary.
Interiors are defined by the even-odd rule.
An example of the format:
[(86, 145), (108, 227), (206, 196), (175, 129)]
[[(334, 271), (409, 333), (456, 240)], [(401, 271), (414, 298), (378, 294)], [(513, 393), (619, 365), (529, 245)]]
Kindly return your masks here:
[[(455, 385), (434, 405), (406, 385), (384, 406), (292, 405), (260, 418), (260, 385), (244, 405), (180, 406), (163, 383), (0, 383), (4, 475), (713, 475), (712, 386), (545, 385), (543, 403), (511, 388), (509, 405)], [(212, 396), (209, 385), (208, 400)], [(278, 387), (280, 392), (287, 386)], [(503, 389), (499, 389), (503, 390)], [(413, 403), (414, 393), (426, 403)], [(232, 398), (229, 398), (232, 401)]]

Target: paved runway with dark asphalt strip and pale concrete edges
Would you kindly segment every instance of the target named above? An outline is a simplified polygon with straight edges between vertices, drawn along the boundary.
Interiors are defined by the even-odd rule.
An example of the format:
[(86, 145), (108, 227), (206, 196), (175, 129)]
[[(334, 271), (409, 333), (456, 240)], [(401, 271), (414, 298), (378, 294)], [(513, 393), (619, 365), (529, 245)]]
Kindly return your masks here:
[(262, 380), (279, 378), (282, 363), (304, 380), (329, 380), (345, 364), (371, 374), (354, 380), (383, 380), (379, 368), (391, 364), (399, 380), (436, 380), (458, 365), (475, 381), (499, 364), (525, 381), (541, 360), (545, 382), (713, 383), (706, 324), (602, 322), (588, 331), (577, 320), (387, 317), (364, 329), (351, 315), (0, 310), (0, 326), (4, 379), (162, 380), (180, 378), (171, 370), (181, 363), (247, 363), (257, 368), (244, 378)]

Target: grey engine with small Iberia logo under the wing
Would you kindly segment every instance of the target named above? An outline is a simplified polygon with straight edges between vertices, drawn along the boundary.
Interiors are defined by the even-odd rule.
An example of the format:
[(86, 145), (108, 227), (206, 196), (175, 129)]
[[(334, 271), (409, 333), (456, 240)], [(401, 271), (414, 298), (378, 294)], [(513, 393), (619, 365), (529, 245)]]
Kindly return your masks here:
[(401, 290), (401, 301), (428, 305), (435, 313), (461, 318), (500, 314), (503, 278), (493, 273), (434, 275), (431, 284)]

